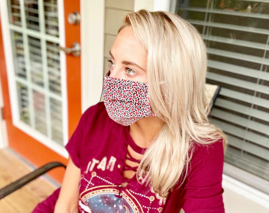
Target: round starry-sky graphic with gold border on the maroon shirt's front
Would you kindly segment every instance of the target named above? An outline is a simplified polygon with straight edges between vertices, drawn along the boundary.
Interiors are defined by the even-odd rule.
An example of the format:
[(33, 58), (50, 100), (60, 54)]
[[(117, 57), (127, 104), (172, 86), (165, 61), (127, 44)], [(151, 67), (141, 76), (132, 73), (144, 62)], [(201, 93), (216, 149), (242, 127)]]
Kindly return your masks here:
[[(120, 194), (119, 194), (120, 193)], [(143, 212), (141, 205), (133, 195), (116, 188), (90, 188), (80, 194), (80, 208), (87, 213), (136, 213)]]

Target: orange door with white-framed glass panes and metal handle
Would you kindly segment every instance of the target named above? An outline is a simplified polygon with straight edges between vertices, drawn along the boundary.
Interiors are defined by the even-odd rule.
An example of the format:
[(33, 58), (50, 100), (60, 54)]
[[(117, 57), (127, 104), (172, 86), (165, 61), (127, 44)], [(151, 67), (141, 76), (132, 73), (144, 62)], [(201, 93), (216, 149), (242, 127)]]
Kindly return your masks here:
[[(66, 164), (67, 154), (57, 150), (64, 149), (81, 116), (80, 57), (65, 57), (57, 46), (80, 43), (80, 25), (68, 22), (70, 13), (79, 13), (80, 1), (3, 2), (8, 3), (0, 5), (6, 7), (1, 10), (0, 77), (9, 146), (38, 167)], [(57, 168), (49, 174), (61, 182), (63, 173)]]

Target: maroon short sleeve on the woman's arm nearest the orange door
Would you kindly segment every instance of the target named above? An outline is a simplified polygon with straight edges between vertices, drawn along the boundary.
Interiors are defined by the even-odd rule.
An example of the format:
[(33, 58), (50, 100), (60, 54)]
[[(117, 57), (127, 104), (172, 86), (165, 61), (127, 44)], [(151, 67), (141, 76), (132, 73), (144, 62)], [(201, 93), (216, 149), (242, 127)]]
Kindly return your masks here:
[(80, 168), (80, 155), (81, 155), (81, 144), (83, 140), (83, 127), (86, 122), (86, 113), (80, 118), (79, 124), (76, 127), (73, 135), (69, 139), (65, 149), (68, 151), (73, 163), (76, 167)]

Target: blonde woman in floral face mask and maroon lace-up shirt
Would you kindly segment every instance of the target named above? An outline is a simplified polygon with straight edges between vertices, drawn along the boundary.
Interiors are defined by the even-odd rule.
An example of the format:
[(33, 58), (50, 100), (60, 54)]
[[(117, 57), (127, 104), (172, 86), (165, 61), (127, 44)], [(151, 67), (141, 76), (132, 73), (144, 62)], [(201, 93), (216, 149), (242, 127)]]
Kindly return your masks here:
[[(130, 13), (110, 54), (104, 102), (66, 145), (54, 212), (224, 212), (226, 139), (208, 123), (207, 57), (195, 28), (167, 12)], [(34, 212), (49, 212), (57, 193)]]

